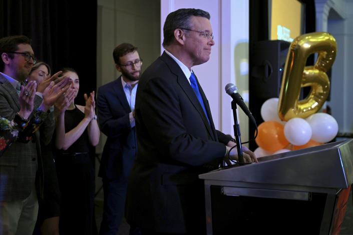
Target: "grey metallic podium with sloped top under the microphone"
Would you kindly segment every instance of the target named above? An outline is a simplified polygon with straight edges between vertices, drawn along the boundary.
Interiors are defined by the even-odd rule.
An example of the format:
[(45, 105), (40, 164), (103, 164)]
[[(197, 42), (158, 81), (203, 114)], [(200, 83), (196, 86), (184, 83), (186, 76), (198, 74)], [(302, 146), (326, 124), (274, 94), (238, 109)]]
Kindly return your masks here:
[(338, 234), (353, 183), (353, 140), (204, 174), (207, 234)]

